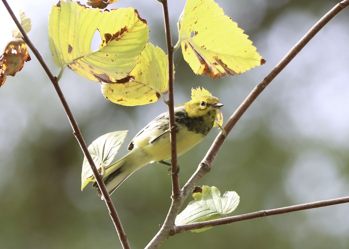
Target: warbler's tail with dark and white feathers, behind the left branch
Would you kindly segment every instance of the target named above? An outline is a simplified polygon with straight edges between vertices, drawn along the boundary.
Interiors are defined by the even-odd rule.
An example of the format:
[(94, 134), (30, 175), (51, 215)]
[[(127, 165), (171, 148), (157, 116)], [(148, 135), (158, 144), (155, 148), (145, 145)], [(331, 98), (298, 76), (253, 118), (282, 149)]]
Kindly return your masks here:
[[(149, 163), (149, 161), (140, 162), (137, 160), (137, 158), (144, 157), (142, 157), (143, 155), (136, 155), (133, 152), (135, 151), (130, 151), (128, 154), (126, 154), (126, 156), (106, 168), (106, 176), (103, 178), (103, 181), (109, 195), (111, 195), (120, 186), (120, 184), (128, 178), (128, 176)], [(92, 188), (98, 188), (97, 182), (92, 184)], [(99, 188), (97, 190), (97, 195), (102, 196)]]

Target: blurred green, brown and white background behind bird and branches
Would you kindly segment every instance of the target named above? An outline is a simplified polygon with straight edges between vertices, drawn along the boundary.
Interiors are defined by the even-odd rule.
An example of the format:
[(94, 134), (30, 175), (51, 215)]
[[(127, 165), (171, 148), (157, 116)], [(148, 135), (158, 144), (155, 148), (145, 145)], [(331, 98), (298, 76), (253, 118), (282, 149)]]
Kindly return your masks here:
[[(196, 76), (175, 53), (175, 103), (204, 86), (224, 104), (225, 121), (248, 93), (336, 1), (218, 1), (245, 30), (267, 63), (240, 76), (211, 80)], [(54, 75), (47, 25), (52, 5), (9, 1), (31, 18), (29, 37)], [(84, 3), (84, 2), (82, 2)], [(169, 1), (172, 37), (185, 1)], [(157, 1), (119, 1), (109, 8), (138, 9), (150, 42), (164, 50), (162, 6)], [(241, 198), (232, 215), (349, 195), (349, 9), (322, 29), (243, 115), (199, 184)], [(14, 24), (0, 4), (0, 21)], [(7, 33), (6, 33), (7, 34)], [(9, 36), (5, 31), (1, 47)], [(92, 46), (98, 46), (98, 39)], [(83, 154), (59, 99), (30, 52), (15, 77), (0, 89), (0, 248), (121, 248), (106, 206), (95, 189), (80, 190)], [(125, 144), (157, 114), (162, 101), (123, 107), (104, 99), (100, 85), (66, 70), (61, 88), (90, 144), (114, 130), (129, 129)], [(179, 157), (181, 185), (195, 171), (218, 134)], [(126, 153), (122, 146), (118, 158)], [(166, 167), (151, 164), (112, 195), (132, 248), (143, 248), (170, 205)], [(187, 202), (190, 201), (188, 198)], [(215, 227), (170, 237), (161, 248), (349, 248), (349, 204)]]

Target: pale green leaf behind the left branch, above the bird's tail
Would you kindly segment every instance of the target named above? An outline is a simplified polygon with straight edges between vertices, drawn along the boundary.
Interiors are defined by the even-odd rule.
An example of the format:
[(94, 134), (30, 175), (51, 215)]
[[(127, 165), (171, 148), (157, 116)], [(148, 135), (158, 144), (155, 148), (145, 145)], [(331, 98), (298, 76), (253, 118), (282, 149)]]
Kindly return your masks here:
[[(127, 133), (128, 130), (107, 133), (98, 137), (88, 146), (88, 150), (98, 170), (101, 169), (101, 165), (106, 167), (113, 161), (121, 144), (124, 143)], [(81, 172), (81, 190), (90, 182), (92, 176), (93, 172), (90, 164), (88, 163), (87, 158), (84, 157)]]

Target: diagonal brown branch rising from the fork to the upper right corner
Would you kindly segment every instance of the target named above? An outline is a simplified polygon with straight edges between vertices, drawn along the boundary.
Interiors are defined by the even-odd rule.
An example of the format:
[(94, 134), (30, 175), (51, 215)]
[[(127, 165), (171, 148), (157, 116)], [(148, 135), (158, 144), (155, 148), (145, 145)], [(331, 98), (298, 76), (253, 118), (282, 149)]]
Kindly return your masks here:
[[(224, 126), (224, 130), (227, 132), (227, 135), (230, 133), (231, 129), (235, 126), (236, 122), (241, 118), (245, 113), (248, 107), (253, 103), (253, 101), (260, 95), (260, 93), (266, 88), (266, 86), (274, 80), (274, 78), (288, 65), (288, 63), (295, 58), (295, 56), (302, 50), (302, 48), (338, 13), (343, 9), (349, 6), (349, 0), (344, 0), (338, 3), (333, 7), (326, 15), (324, 15), (304, 36), (299, 42), (292, 47), (292, 49), (286, 54), (286, 56), (274, 67), (272, 71), (252, 90), (252, 92), (247, 96), (243, 103), (238, 107), (235, 113), (229, 118), (228, 122)], [(225, 136), (220, 132), (216, 137), (215, 141), (211, 145), (211, 148), (208, 150), (206, 156), (202, 159), (199, 168), (202, 165), (212, 165), (218, 151), (221, 149)], [(196, 171), (195, 174), (200, 172), (200, 169)], [(206, 172), (207, 173), (207, 172)], [(194, 186), (198, 183), (201, 175), (193, 175), (192, 178), (185, 184), (183, 187), (183, 195), (187, 197), (191, 191), (194, 189)]]

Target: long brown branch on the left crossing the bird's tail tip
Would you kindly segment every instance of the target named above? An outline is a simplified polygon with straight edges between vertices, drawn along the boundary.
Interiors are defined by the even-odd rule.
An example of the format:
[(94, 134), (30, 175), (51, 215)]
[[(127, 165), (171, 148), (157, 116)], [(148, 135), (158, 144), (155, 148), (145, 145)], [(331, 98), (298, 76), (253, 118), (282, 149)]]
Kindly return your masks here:
[(73, 116), (73, 113), (71, 112), (69, 106), (68, 106), (68, 103), (58, 85), (58, 82), (57, 82), (57, 78), (53, 76), (53, 74), (51, 73), (49, 67), (47, 67), (45, 61), (43, 60), (43, 58), (41, 57), (41, 55), (39, 54), (39, 52), (37, 51), (37, 49), (35, 48), (35, 46), (31, 43), (29, 37), (27, 36), (27, 34), (25, 33), (24, 29), (22, 28), (22, 25), (18, 22), (16, 16), (14, 15), (12, 9), (10, 8), (10, 6), (8, 5), (7, 1), (6, 0), (2, 0), (3, 4), (5, 5), (8, 13), (10, 14), (10, 16), (12, 17), (13, 21), (16, 23), (18, 29), (21, 31), (22, 33), (22, 37), (23, 37), (23, 40), (27, 43), (28, 47), (31, 49), (31, 51), (34, 53), (34, 55), (36, 56), (36, 58), (38, 59), (38, 61), (40, 62), (41, 66), (43, 67), (43, 69), (45, 70), (47, 76), (49, 76), (49, 79), (51, 80), (53, 86), (54, 86), (54, 89), (56, 90), (57, 92), (57, 95), (59, 97), (59, 99), (61, 100), (61, 103), (64, 107), (64, 110), (68, 116), (68, 119), (69, 119), (69, 122), (70, 122), (70, 125), (72, 126), (72, 129), (73, 129), (73, 133), (76, 137), (76, 140), (77, 142), (79, 143), (84, 155), (86, 156), (90, 166), (91, 166), (91, 169), (93, 171), (93, 174), (96, 178), (96, 181), (98, 183), (98, 187), (99, 189), (101, 189), (101, 192), (102, 192), (102, 195), (104, 197), (104, 201), (108, 207), (108, 210), (109, 210), (109, 214), (112, 218), (112, 221), (114, 223), (114, 226), (118, 232), (118, 235), (119, 235), (119, 239), (121, 241), (121, 244), (122, 244), (122, 247), (123, 248), (130, 248), (129, 246), (129, 243), (128, 243), (128, 240), (127, 240), (127, 236), (125, 234), (125, 231), (124, 229), (122, 228), (122, 225), (121, 225), (121, 222), (120, 222), (120, 219), (118, 217), (118, 214), (116, 212), (116, 209), (110, 199), (110, 196), (108, 194), (108, 191), (106, 190), (105, 188), (105, 184), (103, 182), (103, 179), (102, 179), (102, 176), (99, 174), (97, 168), (95, 167), (95, 164), (94, 164), (94, 161), (92, 160), (91, 158), (91, 155), (88, 151), (88, 148), (87, 148), (87, 145), (82, 137), (82, 134), (81, 134), (81, 131), (79, 129), (79, 126), (77, 125), (76, 121), (75, 121), (75, 118)]

